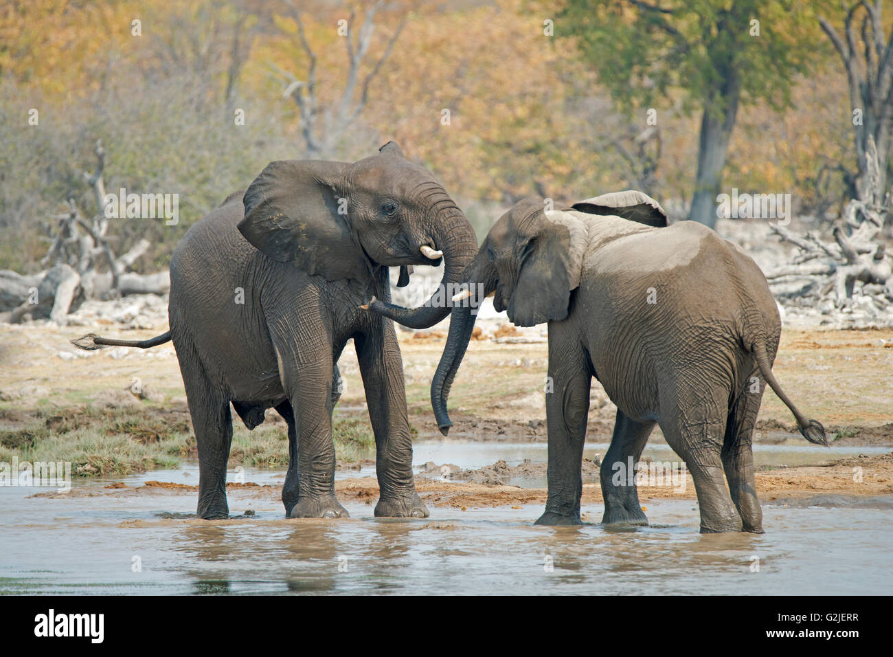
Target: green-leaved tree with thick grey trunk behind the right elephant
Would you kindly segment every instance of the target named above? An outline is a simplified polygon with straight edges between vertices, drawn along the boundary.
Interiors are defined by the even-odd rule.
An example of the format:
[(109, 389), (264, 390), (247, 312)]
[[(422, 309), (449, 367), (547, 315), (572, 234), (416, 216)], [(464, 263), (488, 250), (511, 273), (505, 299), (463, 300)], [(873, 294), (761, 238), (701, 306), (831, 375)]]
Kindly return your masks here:
[(701, 112), (689, 219), (713, 226), (739, 106), (790, 103), (815, 61), (815, 6), (805, 0), (567, 0), (559, 31), (643, 128), (674, 95)]

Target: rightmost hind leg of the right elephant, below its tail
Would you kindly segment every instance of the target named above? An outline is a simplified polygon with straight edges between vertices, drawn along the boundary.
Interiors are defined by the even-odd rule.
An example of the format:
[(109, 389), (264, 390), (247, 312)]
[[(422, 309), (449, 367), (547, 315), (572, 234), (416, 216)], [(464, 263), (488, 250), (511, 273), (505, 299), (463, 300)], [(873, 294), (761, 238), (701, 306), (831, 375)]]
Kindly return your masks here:
[(756, 415), (763, 400), (765, 382), (759, 392), (746, 387), (732, 406), (722, 443), (722, 467), (729, 481), (731, 499), (738, 508), (746, 532), (763, 533), (763, 510), (756, 497), (754, 452), (752, 450)]

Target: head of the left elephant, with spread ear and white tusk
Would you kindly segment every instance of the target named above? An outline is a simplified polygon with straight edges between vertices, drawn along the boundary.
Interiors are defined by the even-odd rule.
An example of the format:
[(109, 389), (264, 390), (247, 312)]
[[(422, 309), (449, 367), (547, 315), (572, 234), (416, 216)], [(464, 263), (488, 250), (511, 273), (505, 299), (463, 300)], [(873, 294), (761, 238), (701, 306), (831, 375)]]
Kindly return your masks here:
[[(281, 161), (268, 164), (246, 190), (238, 230), (273, 260), (326, 280), (369, 282), (376, 266), (445, 263), (442, 285), (455, 282), (477, 250), (472, 225), (443, 186), (389, 141), (354, 164)], [(438, 296), (439, 298), (439, 296)], [(448, 304), (407, 309), (374, 300), (407, 326), (424, 328), (449, 314)]]

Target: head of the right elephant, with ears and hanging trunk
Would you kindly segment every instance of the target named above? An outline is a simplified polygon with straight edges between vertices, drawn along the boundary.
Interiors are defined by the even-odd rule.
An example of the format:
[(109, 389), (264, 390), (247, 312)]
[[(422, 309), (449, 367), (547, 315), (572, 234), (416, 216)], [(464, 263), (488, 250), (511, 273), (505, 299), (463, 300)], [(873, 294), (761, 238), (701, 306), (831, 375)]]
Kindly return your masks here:
[[(542, 198), (526, 198), (502, 215), (463, 276), (465, 291), (452, 299), (447, 344), (431, 382), (431, 405), (444, 435), (452, 425), (447, 415), (450, 386), (468, 348), (475, 308), (485, 297), (494, 294), (494, 307), (505, 310), (519, 326), (563, 320), (590, 248), (619, 234), (647, 230), (642, 224), (667, 225), (661, 206), (635, 190), (605, 194), (571, 207), (546, 207)], [(604, 215), (630, 221), (618, 226)], [(467, 301), (460, 305), (463, 299)]]

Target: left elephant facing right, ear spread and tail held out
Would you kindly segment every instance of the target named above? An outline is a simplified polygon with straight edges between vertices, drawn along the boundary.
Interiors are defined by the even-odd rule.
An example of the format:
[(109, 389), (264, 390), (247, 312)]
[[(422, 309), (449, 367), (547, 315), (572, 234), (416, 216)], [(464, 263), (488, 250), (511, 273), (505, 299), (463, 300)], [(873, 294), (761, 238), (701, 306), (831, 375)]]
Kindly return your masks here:
[[(276, 409), (288, 424), (282, 502), (290, 518), (342, 518), (332, 410), (337, 362), (353, 339), (376, 445), (377, 517), (425, 518), (394, 325), (388, 266), (444, 263), (455, 282), (477, 251), (472, 225), (432, 173), (390, 141), (355, 163), (272, 162), (191, 226), (171, 257), (170, 331), (147, 341), (88, 334), (81, 348), (173, 341), (196, 433), (198, 515), (227, 518), (232, 408), (248, 429)], [(430, 301), (430, 299), (429, 299)], [(430, 326), (444, 304), (395, 311)]]

